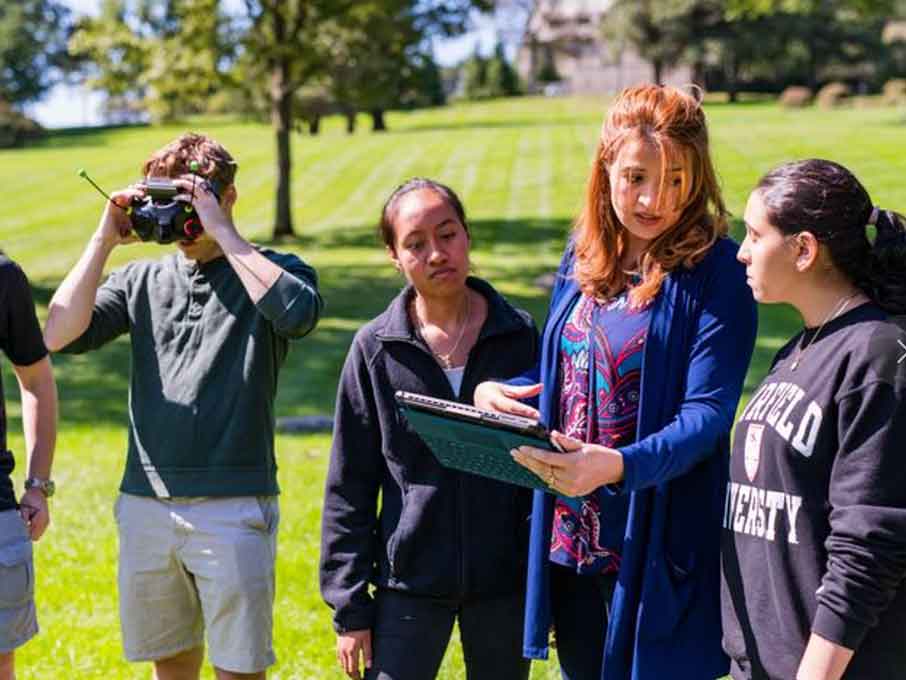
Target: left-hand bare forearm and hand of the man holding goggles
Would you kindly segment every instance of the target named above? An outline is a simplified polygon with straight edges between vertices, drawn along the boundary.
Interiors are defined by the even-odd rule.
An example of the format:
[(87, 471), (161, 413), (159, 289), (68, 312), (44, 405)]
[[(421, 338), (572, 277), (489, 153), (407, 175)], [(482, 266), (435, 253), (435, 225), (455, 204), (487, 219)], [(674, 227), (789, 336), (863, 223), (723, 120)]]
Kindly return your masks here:
[[(126, 205), (133, 195), (141, 195), (141, 191), (126, 189), (113, 194), (113, 199)], [(108, 203), (85, 251), (48, 305), (44, 326), (47, 349), (52, 352), (60, 350), (88, 328), (107, 258), (116, 246), (136, 240), (131, 228), (126, 212)]]

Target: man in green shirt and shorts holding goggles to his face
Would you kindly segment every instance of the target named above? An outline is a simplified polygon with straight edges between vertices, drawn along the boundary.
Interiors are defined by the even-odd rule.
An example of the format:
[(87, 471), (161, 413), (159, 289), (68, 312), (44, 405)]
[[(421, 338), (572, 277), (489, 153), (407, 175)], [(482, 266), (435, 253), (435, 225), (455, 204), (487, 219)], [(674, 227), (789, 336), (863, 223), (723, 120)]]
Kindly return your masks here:
[(154, 153), (143, 167), (153, 181), (112, 200), (135, 206), (168, 178), (203, 229), (175, 240), (178, 253), (133, 261), (99, 286), (111, 251), (138, 240), (130, 214), (108, 203), (44, 333), (51, 350), (69, 353), (130, 336), (129, 450), (115, 508), (120, 620), (126, 657), (154, 662), (159, 680), (197, 678), (205, 637), (219, 680), (264, 678), (275, 661), (274, 396), (289, 341), (314, 328), (322, 302), (311, 267), (238, 233), (235, 173), (203, 135)]

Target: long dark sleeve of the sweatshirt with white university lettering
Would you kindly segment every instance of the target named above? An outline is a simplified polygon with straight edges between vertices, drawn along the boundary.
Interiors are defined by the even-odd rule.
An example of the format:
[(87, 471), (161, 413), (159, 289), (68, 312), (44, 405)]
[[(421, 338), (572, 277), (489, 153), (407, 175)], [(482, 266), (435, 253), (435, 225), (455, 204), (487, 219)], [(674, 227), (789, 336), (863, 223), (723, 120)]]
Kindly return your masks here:
[(890, 370), (891, 379), (838, 401), (827, 570), (812, 630), (849, 649), (877, 625), (906, 577), (906, 380), (902, 368)]

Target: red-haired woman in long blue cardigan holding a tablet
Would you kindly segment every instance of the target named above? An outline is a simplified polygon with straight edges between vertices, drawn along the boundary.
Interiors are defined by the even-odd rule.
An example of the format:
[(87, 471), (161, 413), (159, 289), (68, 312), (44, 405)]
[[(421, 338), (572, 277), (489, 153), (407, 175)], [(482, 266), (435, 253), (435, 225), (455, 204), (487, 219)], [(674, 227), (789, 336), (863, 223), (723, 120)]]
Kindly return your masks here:
[[(553, 626), (565, 680), (726, 673), (720, 527), (756, 315), (698, 97), (624, 90), (601, 131), (536, 370), (476, 388), (540, 418), (562, 453), (532, 513), (524, 653)], [(522, 400), (537, 398), (529, 406)]]

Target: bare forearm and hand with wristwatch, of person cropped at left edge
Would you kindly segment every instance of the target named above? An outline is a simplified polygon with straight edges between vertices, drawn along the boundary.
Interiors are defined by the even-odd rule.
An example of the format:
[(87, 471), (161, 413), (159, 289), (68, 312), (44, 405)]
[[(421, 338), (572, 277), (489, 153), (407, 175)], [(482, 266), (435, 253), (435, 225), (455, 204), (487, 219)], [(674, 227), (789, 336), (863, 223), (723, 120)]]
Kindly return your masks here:
[[(22, 395), (22, 429), (28, 452), (28, 477), (50, 479), (57, 440), (57, 385), (50, 358), (30, 366), (13, 365)], [(41, 538), (50, 523), (47, 499), (40, 489), (22, 496), (22, 516), (33, 541)]]

